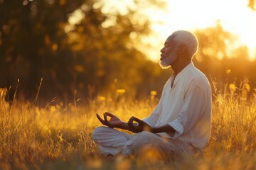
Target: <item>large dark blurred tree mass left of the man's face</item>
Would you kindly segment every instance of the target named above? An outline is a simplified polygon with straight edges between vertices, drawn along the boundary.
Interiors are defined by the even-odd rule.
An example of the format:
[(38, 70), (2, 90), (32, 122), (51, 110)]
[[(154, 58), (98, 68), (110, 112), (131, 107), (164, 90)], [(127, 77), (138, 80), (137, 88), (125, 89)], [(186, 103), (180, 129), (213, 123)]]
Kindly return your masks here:
[[(134, 22), (132, 8), (111, 14), (95, 6), (92, 0), (0, 1), (0, 86), (14, 86), (20, 79), (19, 90), (33, 99), (43, 78), (45, 98), (68, 101), (75, 89), (87, 94), (88, 85), (102, 91), (119, 79), (132, 89), (152, 79), (156, 74), (149, 72), (158, 67), (145, 60), (130, 38), (149, 33), (149, 22)], [(71, 24), (75, 11), (84, 17)], [(114, 24), (106, 26), (111, 18)]]

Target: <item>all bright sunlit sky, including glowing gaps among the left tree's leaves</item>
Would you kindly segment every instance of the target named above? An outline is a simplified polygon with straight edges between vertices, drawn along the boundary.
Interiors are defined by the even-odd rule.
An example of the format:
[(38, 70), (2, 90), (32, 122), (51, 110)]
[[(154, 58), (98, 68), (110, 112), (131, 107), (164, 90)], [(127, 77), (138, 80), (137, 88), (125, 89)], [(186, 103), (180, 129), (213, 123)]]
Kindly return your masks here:
[[(140, 3), (146, 4), (146, 1)], [(97, 8), (102, 4), (104, 4), (103, 13), (119, 11), (119, 13), (125, 15), (129, 12), (127, 8), (136, 8), (134, 0), (102, 0), (98, 1), (94, 7)], [(193, 31), (215, 27), (217, 23), (220, 23), (224, 30), (238, 38), (238, 42), (234, 43), (235, 47), (247, 46), (250, 59), (255, 60), (256, 11), (252, 11), (247, 4), (248, 0), (166, 0), (164, 8), (154, 8), (146, 5), (144, 8), (136, 8), (137, 13), (149, 16), (152, 22), (152, 33), (142, 40), (143, 44), (148, 46), (142, 45), (138, 48), (145, 52), (149, 59), (159, 62), (159, 50), (174, 30)], [(82, 17), (84, 17), (82, 13), (77, 10), (70, 16), (69, 22), (71, 24), (77, 23)], [(143, 19), (139, 18), (139, 22), (143, 22)], [(102, 26), (107, 27), (113, 23), (110, 19), (102, 23)], [(67, 27), (66, 29), (72, 28)], [(235, 47), (229, 48), (234, 49)]]

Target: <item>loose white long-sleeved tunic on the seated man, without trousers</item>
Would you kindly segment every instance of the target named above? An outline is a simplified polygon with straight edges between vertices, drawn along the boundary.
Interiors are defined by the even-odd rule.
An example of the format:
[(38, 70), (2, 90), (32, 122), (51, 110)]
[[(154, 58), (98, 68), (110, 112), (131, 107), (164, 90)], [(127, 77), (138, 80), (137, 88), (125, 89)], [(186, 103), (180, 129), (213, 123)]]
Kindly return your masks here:
[[(171, 81), (174, 86), (171, 87)], [(166, 82), (159, 104), (144, 121), (153, 127), (169, 124), (176, 130), (174, 137), (198, 149), (206, 147), (210, 137), (211, 90), (206, 76), (193, 63), (188, 64), (174, 79)]]

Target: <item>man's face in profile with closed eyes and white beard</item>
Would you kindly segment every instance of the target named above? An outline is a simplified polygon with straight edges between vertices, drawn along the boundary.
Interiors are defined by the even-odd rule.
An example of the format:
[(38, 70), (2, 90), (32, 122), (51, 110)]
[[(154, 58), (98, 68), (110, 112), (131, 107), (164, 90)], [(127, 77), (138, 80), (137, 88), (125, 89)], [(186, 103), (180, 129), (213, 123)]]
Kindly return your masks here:
[(176, 45), (174, 44), (174, 35), (170, 35), (167, 38), (166, 42), (164, 42), (164, 47), (160, 50), (161, 58), (160, 58), (160, 66), (164, 69), (168, 68), (173, 64), (176, 59)]

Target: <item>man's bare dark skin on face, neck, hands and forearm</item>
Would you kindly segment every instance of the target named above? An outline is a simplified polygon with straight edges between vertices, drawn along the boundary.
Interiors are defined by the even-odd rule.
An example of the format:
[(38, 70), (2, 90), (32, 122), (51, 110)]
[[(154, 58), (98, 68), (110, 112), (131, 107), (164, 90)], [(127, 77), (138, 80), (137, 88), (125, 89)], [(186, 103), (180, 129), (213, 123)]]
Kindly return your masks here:
[[(174, 59), (169, 64), (174, 70), (174, 74), (177, 75), (191, 62), (191, 57), (188, 56), (186, 47), (182, 44), (176, 44), (173, 39), (174, 35), (170, 35), (164, 43), (164, 47), (160, 50), (160, 52), (162, 58), (168, 57), (171, 53), (176, 55), (176, 59)], [(143, 120), (140, 120), (139, 118), (136, 118), (134, 116), (129, 118), (127, 123), (123, 122), (122, 120), (117, 118), (117, 116), (109, 112), (103, 114), (104, 119), (102, 119), (98, 113), (96, 113), (96, 116), (103, 125), (106, 125), (110, 128), (119, 128), (123, 130), (129, 130), (135, 133), (142, 131), (148, 131), (152, 133), (167, 132), (171, 137), (174, 137), (174, 133), (176, 132), (176, 130), (174, 130), (174, 128), (172, 128), (168, 124), (158, 127), (151, 127)], [(110, 119), (108, 119), (108, 117), (110, 117)]]

